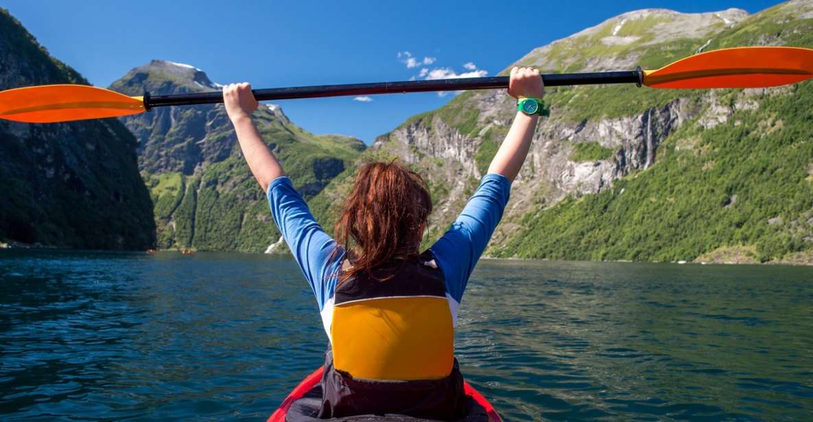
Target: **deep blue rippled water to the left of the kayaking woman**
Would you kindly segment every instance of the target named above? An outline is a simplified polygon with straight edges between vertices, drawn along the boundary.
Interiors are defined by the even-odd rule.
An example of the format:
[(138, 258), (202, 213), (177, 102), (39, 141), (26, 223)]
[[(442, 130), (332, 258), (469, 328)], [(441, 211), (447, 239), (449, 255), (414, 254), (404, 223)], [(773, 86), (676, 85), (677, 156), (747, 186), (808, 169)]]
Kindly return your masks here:
[(0, 413), (256, 419), (320, 362), (292, 261), (3, 252)]

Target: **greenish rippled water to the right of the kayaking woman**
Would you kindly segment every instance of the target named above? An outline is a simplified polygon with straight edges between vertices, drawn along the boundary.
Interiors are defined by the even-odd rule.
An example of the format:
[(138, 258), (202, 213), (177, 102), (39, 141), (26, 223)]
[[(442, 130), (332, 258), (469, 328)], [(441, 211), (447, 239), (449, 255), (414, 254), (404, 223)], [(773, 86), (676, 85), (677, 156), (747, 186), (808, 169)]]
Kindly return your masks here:
[(516, 420), (810, 415), (811, 273), (489, 261), (464, 299), (463, 371)]

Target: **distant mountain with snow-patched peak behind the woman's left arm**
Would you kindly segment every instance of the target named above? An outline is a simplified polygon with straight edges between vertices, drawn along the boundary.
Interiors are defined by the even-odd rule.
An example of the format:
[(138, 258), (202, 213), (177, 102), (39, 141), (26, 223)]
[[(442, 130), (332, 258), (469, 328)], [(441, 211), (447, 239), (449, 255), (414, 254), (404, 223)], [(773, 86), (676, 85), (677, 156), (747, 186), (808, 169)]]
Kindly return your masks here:
[[(153, 60), (111, 89), (128, 95), (214, 91), (205, 72)], [(121, 118), (138, 141), (138, 163), (154, 201), (159, 248), (263, 252), (280, 234), (251, 176), (223, 105), (159, 107)], [(365, 149), (347, 136), (314, 135), (278, 105), (254, 113), (263, 140), (306, 198), (319, 193)]]

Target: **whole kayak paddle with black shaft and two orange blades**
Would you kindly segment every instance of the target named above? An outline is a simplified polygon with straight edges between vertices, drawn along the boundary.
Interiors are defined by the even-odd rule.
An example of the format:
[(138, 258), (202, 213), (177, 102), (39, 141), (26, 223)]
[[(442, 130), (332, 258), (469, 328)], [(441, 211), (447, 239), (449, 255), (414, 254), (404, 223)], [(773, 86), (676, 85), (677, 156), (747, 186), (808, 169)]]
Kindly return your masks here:
[[(799, 47), (737, 47), (682, 58), (655, 71), (605, 71), (542, 75), (546, 86), (641, 84), (650, 88), (766, 88), (813, 77), (813, 50)], [(410, 80), (372, 84), (254, 89), (258, 101), (428, 91), (508, 88), (508, 76)], [(0, 118), (58, 123), (139, 114), (166, 105), (215, 104), (223, 93), (128, 97), (105, 88), (57, 84), (0, 92)]]

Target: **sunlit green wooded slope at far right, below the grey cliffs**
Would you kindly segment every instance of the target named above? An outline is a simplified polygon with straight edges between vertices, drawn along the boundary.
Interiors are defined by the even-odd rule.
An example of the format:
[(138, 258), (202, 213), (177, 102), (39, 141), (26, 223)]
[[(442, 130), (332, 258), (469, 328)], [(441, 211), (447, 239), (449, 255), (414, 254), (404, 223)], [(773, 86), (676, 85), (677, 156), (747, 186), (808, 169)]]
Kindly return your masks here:
[[(708, 47), (810, 48), (811, 18), (810, 2), (785, 3), (725, 29)], [(498, 255), (804, 259), (813, 248), (813, 84), (697, 95), (706, 110), (664, 140), (656, 166), (598, 195), (527, 213), (528, 230)]]

